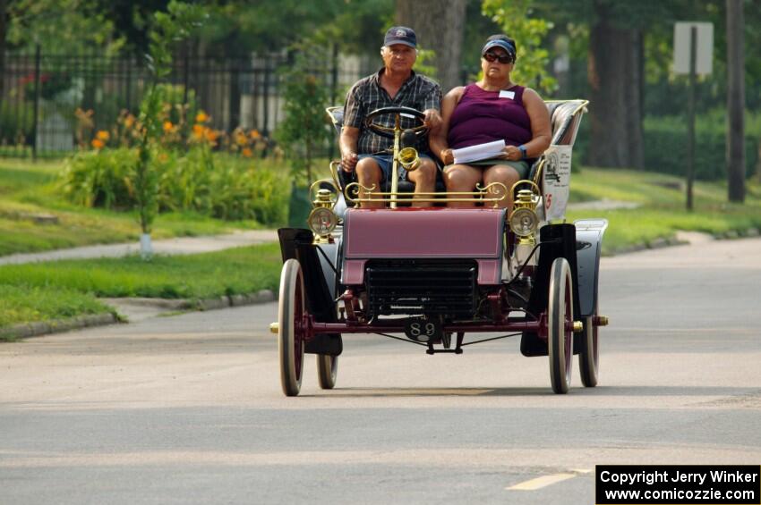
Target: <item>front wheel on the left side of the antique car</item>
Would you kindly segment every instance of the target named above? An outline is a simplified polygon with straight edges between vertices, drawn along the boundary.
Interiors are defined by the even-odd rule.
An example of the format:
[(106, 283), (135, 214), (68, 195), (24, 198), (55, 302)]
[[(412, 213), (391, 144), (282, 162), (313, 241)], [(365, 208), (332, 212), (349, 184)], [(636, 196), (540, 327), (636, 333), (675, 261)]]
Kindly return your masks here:
[(296, 396), (304, 375), (304, 276), (301, 265), (289, 259), (280, 274), (278, 307), (278, 351), (280, 384), (286, 396)]

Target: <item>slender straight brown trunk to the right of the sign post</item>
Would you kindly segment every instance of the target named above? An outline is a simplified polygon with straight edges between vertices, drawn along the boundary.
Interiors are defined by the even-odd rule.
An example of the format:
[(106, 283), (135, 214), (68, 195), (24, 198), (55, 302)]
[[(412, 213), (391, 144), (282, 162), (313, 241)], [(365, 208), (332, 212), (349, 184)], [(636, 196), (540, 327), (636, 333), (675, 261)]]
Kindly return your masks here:
[(727, 175), (731, 202), (745, 201), (744, 29), (742, 0), (727, 0)]

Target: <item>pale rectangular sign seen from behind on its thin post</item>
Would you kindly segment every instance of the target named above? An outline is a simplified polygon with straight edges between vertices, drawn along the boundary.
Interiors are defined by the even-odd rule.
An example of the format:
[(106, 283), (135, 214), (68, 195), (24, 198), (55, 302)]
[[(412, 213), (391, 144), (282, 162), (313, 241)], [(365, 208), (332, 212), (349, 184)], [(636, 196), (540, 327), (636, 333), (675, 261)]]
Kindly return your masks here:
[(687, 112), (687, 209), (692, 210), (695, 180), (695, 80), (713, 70), (714, 24), (679, 21), (674, 23), (674, 72), (689, 75)]

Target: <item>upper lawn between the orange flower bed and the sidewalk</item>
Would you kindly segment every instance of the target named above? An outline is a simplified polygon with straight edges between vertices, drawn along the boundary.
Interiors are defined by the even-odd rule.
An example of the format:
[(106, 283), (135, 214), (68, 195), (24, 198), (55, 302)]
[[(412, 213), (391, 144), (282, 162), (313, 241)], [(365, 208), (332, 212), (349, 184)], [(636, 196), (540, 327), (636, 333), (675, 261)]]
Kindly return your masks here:
[[(84, 208), (62, 198), (57, 184), (62, 166), (60, 161), (0, 160), (0, 256), (138, 239), (140, 227), (133, 213)], [(37, 223), (37, 215), (54, 215), (58, 223)], [(254, 221), (168, 213), (158, 216), (152, 236), (211, 235), (259, 227)]]

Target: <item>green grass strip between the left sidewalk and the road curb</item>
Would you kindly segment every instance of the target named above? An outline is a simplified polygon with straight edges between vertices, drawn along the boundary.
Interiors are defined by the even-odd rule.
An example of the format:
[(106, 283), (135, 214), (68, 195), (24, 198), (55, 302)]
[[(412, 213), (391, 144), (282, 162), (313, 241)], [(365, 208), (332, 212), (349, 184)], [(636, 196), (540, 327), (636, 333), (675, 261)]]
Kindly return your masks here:
[(208, 299), (276, 290), (277, 243), (191, 256), (0, 266), (0, 327), (107, 311), (96, 297)]

